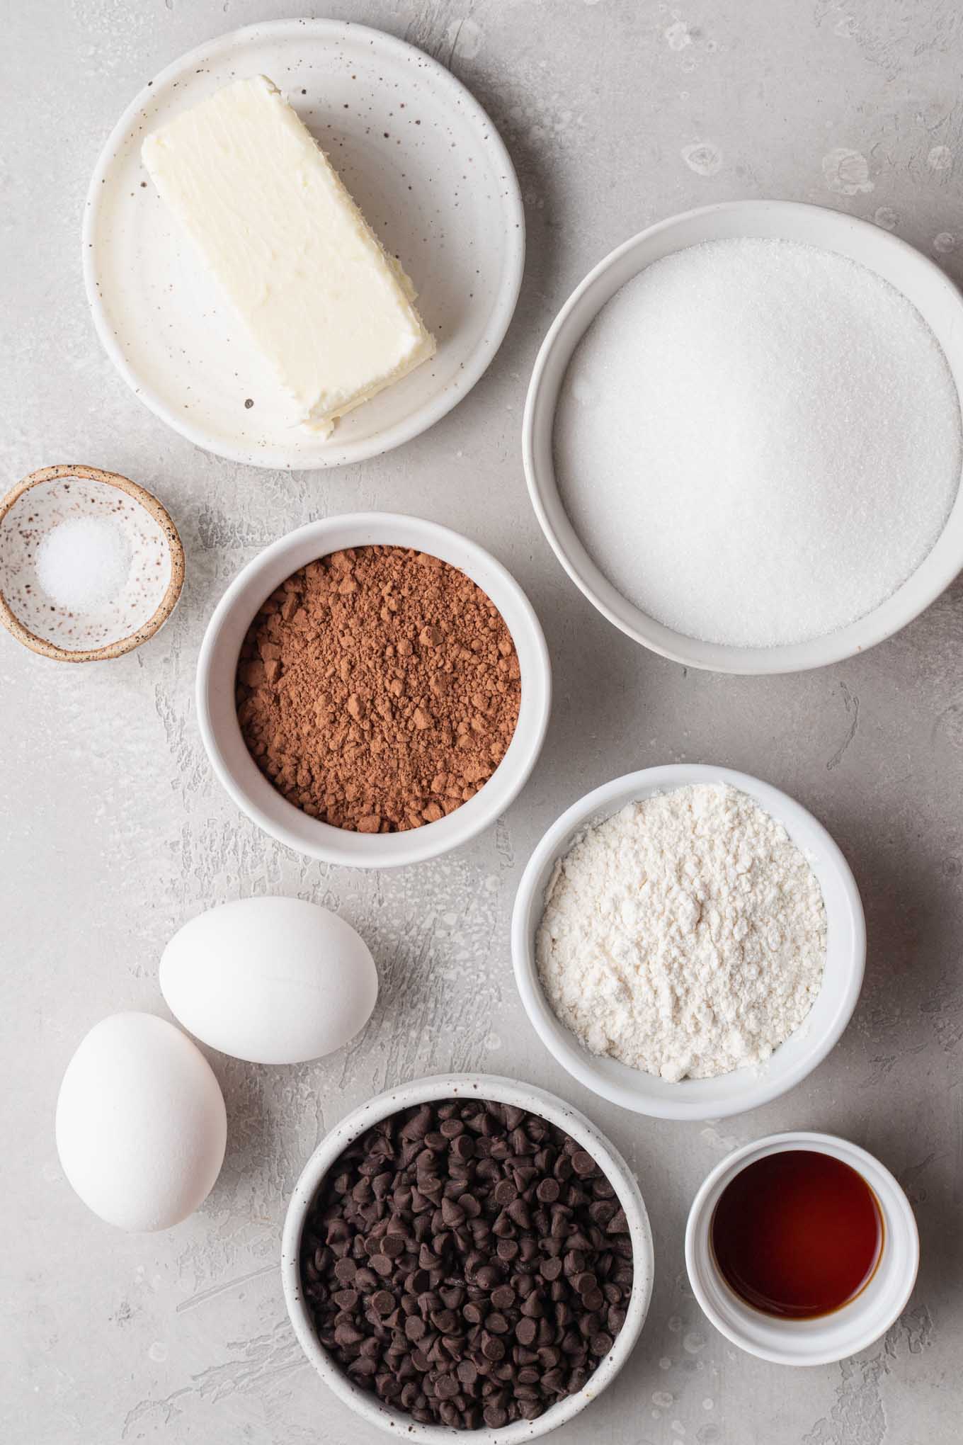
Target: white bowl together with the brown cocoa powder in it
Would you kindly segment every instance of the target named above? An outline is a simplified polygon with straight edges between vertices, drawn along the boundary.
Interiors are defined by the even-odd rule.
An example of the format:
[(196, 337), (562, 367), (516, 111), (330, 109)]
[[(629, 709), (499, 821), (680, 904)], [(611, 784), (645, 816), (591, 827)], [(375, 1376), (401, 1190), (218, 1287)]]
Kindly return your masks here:
[(552, 679), (514, 578), (417, 517), (312, 522), (221, 598), (198, 721), (234, 802), (326, 863), (401, 867), (459, 847), (524, 786)]

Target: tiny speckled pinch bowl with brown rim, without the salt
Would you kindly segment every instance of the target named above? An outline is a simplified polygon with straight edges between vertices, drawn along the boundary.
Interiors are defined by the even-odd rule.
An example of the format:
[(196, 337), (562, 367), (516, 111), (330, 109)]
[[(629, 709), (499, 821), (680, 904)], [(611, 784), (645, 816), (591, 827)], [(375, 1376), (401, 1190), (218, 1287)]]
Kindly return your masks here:
[[(116, 597), (69, 611), (43, 590), (38, 552), (62, 522), (110, 519), (130, 569)], [(156, 497), (100, 467), (43, 467), (0, 501), (0, 621), (17, 642), (56, 662), (103, 662), (133, 652), (163, 627), (183, 585), (178, 529)]]

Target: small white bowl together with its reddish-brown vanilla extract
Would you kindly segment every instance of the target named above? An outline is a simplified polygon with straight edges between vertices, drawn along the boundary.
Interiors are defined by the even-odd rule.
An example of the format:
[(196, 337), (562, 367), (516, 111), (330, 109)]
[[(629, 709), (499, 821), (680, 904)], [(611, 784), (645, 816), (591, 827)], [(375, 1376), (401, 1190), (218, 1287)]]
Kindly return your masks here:
[(689, 1214), (686, 1267), (703, 1314), (774, 1364), (865, 1350), (905, 1309), (918, 1264), (904, 1191), (833, 1134), (771, 1134), (735, 1150)]

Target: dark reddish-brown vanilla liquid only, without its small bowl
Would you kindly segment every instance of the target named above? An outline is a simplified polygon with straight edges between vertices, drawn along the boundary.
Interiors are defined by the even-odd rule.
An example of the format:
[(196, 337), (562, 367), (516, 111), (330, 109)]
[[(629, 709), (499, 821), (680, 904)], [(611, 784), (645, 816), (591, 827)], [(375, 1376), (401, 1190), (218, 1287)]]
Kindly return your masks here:
[(872, 1279), (882, 1238), (879, 1205), (862, 1175), (809, 1149), (746, 1165), (710, 1225), (731, 1289), (755, 1309), (790, 1319), (849, 1303)]

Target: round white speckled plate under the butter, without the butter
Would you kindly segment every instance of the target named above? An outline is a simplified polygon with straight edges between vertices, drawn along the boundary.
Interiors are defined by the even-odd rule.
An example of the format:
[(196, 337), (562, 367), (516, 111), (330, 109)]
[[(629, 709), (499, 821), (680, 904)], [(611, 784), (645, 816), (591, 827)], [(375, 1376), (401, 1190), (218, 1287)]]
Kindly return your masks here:
[[(144, 136), (244, 75), (269, 75), (419, 292), (437, 354), (328, 439), (290, 405), (140, 163)], [(256, 467), (364, 461), (445, 416), (511, 321), (524, 262), (518, 182), (492, 123), (422, 51), (338, 20), (248, 26), (167, 66), (124, 111), (84, 218), (94, 324), (134, 393), (208, 451)]]

